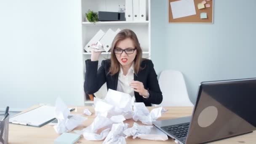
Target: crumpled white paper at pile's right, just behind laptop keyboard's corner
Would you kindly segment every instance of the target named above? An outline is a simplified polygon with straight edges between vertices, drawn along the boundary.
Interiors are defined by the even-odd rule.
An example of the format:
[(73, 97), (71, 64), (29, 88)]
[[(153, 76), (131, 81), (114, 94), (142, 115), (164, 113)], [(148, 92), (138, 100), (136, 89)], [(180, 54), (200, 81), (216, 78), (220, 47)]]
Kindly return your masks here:
[(149, 112), (143, 102), (135, 102), (133, 104), (133, 109), (133, 120), (139, 120), (145, 125), (152, 125), (152, 122), (156, 121), (157, 118), (161, 117), (162, 114), (167, 111), (163, 107), (158, 107)]

